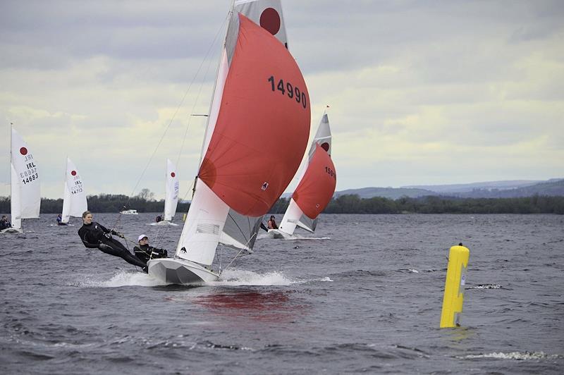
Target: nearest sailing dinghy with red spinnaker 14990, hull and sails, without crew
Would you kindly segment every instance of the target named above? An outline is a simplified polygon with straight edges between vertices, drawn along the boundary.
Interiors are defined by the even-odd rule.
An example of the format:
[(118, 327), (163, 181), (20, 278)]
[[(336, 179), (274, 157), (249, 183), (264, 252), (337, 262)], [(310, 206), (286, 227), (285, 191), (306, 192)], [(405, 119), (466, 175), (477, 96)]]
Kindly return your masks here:
[(176, 254), (147, 263), (161, 281), (217, 280), (221, 270), (210, 267), (229, 211), (266, 214), (300, 166), (309, 137), (309, 95), (293, 56), (276, 38), (282, 31), (279, 1), (235, 1)]

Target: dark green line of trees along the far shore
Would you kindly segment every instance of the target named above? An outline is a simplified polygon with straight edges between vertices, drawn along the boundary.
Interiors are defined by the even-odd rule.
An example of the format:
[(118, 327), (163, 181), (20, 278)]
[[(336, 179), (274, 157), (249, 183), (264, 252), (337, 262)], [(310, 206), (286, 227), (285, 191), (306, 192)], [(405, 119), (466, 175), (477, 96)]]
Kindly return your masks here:
[[(161, 212), (164, 200), (152, 194), (135, 197), (126, 195), (90, 195), (88, 209), (92, 212), (119, 212), (136, 209), (138, 212)], [(283, 214), (290, 198), (280, 198), (271, 208), (274, 214)], [(188, 211), (190, 203), (178, 202), (176, 211)], [(63, 199), (41, 199), (42, 214), (59, 214)], [(10, 198), (0, 197), (0, 212), (10, 212)], [(360, 198), (358, 195), (341, 195), (331, 199), (324, 214), (564, 214), (564, 197), (534, 195), (520, 198), (458, 198), (419, 197), (388, 199), (383, 197)]]

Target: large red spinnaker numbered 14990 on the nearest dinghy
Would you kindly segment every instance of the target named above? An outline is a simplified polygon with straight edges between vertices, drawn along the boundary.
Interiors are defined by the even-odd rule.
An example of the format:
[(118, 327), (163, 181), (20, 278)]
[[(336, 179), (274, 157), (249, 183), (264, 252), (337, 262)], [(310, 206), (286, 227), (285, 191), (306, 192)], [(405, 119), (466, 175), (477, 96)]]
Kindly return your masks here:
[(241, 14), (239, 21), (219, 116), (199, 176), (238, 213), (261, 216), (300, 166), (309, 137), (309, 95), (283, 44)]

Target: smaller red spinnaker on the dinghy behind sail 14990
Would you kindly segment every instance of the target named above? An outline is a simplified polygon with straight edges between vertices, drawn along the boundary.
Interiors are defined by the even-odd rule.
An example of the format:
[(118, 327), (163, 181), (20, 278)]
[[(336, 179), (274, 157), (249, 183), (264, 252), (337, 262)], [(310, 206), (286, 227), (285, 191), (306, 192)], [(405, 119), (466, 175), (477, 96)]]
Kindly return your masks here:
[(331, 201), (336, 184), (337, 174), (331, 156), (321, 146), (316, 145), (307, 171), (292, 198), (305, 216), (315, 219)]

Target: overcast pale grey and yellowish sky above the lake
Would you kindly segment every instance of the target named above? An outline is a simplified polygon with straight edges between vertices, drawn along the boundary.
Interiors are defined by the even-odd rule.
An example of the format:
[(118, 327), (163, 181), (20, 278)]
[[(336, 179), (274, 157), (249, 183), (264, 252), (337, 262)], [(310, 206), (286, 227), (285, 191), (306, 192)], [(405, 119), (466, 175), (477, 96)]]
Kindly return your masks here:
[[(89, 194), (159, 198), (170, 158), (187, 196), (230, 4), (0, 1), (0, 195), (13, 123), (44, 197), (62, 197), (67, 155)], [(330, 106), (337, 190), (564, 178), (563, 1), (283, 10), (311, 137)]]

